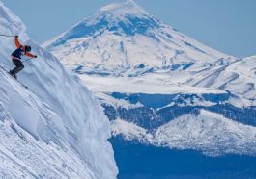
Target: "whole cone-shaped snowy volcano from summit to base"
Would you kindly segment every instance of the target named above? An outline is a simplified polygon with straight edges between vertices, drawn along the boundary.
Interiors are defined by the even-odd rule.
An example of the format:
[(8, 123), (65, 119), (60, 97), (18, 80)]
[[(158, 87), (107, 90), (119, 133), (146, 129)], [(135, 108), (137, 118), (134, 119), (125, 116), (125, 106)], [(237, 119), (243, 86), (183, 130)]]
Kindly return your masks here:
[(76, 72), (114, 76), (194, 71), (229, 58), (186, 37), (133, 1), (105, 6), (43, 46)]

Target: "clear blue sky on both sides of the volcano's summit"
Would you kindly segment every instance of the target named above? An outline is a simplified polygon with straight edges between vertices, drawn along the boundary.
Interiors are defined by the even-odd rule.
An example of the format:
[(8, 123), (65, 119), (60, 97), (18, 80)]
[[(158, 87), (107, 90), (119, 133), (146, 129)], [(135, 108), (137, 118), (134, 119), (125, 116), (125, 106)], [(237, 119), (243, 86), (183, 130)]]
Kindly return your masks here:
[[(114, 0), (2, 0), (42, 43)], [(256, 0), (136, 0), (185, 35), (237, 57), (256, 55)]]

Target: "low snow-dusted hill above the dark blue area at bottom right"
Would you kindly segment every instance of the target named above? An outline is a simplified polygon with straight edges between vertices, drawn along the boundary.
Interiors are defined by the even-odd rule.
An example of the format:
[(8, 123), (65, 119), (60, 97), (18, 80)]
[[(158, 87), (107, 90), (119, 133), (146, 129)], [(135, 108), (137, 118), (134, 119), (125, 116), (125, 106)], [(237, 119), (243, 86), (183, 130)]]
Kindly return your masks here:
[(162, 125), (154, 133), (121, 119), (113, 121), (112, 125), (113, 135), (122, 135), (128, 141), (201, 150), (211, 156), (255, 155), (256, 152), (256, 127), (205, 110), (197, 115), (182, 115)]

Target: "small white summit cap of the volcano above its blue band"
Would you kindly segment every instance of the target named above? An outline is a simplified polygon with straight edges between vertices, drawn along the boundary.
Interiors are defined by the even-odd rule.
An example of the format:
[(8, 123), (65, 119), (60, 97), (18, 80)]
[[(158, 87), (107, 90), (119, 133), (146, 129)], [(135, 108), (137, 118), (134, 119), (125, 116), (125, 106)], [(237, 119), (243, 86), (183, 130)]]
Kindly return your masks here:
[(126, 13), (147, 13), (139, 7), (133, 0), (117, 0), (116, 2), (100, 8), (101, 13), (114, 13), (118, 15)]

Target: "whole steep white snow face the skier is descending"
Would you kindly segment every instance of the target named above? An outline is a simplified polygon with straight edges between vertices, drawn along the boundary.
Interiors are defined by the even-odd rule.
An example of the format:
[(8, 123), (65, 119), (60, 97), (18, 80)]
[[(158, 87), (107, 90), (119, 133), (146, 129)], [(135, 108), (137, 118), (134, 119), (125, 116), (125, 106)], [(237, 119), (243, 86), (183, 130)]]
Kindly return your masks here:
[[(2, 2), (0, 30), (38, 55), (18, 74), (29, 90), (0, 68), (1, 178), (116, 178), (110, 125), (93, 94), (28, 38)], [(14, 38), (0, 37), (0, 46), (1, 66), (12, 69)]]

